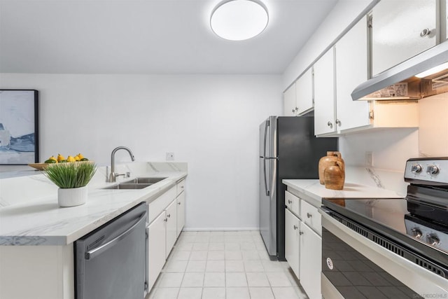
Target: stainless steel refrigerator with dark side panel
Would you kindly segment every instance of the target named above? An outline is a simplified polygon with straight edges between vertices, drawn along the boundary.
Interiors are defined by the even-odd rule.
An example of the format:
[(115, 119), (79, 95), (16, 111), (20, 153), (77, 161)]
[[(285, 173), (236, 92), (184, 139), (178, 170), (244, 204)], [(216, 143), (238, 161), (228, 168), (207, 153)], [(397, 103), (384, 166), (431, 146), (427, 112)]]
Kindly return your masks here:
[(260, 125), (260, 235), (272, 259), (285, 260), (283, 179), (318, 179), (318, 161), (338, 139), (314, 136), (313, 116), (269, 116)]

